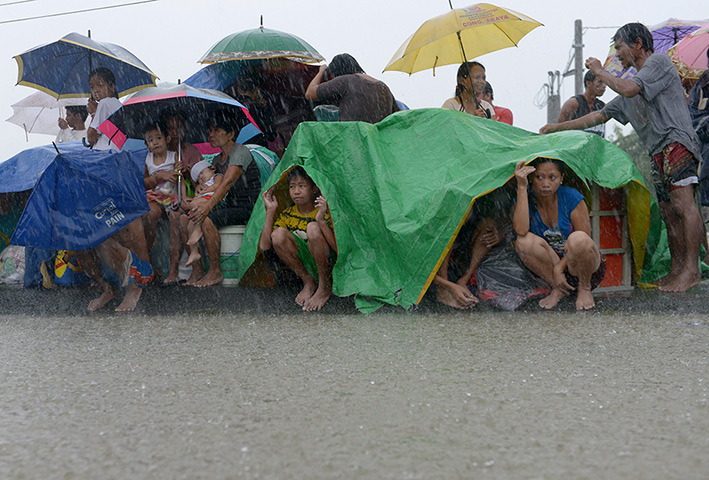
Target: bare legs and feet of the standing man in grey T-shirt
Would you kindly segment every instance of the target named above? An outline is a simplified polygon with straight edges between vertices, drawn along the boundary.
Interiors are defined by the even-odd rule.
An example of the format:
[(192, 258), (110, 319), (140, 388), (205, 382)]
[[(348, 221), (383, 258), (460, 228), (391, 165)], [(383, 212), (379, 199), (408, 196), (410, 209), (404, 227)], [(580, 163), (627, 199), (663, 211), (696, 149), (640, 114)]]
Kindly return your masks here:
[(671, 211), (668, 218), (665, 218), (665, 223), (672, 256), (670, 274), (672, 275), (673, 272), (675, 274), (660, 286), (660, 290), (684, 292), (699, 283), (701, 279), (699, 250), (703, 243), (704, 226), (694, 203), (693, 186), (670, 191), (670, 204)]

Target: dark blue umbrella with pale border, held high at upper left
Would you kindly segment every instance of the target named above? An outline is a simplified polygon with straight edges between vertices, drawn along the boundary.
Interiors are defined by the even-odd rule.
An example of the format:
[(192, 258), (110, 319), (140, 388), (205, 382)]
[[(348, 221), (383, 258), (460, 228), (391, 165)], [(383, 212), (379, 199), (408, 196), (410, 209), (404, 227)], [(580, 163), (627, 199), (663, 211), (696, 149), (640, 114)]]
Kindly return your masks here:
[(78, 33), (70, 33), (14, 58), (19, 69), (18, 85), (36, 88), (55, 98), (90, 96), (89, 73), (98, 67), (113, 72), (118, 96), (155, 85), (158, 78), (125, 48), (97, 42)]

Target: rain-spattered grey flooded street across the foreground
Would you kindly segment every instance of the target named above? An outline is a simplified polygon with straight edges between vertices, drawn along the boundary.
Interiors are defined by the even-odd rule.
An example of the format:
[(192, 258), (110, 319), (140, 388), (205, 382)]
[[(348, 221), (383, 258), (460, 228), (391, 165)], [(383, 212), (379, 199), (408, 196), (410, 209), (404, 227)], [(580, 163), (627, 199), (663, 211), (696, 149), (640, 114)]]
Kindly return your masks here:
[(4, 478), (706, 478), (709, 317), (6, 316)]

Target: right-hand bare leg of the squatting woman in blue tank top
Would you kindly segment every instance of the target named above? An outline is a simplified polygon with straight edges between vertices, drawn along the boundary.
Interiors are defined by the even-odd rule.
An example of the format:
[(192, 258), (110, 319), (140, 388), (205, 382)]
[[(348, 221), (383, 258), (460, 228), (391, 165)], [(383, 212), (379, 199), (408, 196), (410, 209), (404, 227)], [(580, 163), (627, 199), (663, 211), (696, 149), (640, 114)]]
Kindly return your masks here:
[(576, 292), (576, 310), (590, 310), (596, 306), (591, 293), (591, 276), (601, 264), (601, 252), (584, 232), (573, 232), (566, 239), (566, 268), (579, 280)]

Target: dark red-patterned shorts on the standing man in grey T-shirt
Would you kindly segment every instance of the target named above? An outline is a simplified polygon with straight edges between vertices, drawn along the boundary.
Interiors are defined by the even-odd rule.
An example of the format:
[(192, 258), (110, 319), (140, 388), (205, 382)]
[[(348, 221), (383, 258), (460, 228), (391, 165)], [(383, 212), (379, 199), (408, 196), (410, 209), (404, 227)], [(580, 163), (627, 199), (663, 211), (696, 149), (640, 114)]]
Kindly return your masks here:
[(658, 202), (669, 202), (670, 192), (697, 185), (699, 161), (681, 143), (670, 143), (652, 156), (652, 179)]

